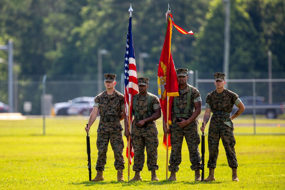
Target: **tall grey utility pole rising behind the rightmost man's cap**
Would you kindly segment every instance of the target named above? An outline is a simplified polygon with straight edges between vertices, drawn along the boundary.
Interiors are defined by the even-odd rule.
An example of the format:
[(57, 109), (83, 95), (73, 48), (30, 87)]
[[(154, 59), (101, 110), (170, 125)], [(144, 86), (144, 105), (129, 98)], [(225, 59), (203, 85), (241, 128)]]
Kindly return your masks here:
[[(224, 37), (224, 63), (223, 72), (229, 78), (229, 55), (230, 55), (230, 0), (223, 0), (225, 2), (225, 37)], [(225, 88), (227, 88), (227, 83)]]

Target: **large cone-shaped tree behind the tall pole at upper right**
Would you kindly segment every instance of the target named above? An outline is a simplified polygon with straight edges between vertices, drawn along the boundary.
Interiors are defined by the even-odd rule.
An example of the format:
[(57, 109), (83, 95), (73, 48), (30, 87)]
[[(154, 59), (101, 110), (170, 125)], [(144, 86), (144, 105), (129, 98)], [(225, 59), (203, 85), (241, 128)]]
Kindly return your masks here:
[[(255, 28), (244, 2), (231, 0), (229, 71), (264, 71), (267, 54), (264, 36)], [(198, 35), (194, 67), (203, 72), (223, 71), (225, 8), (220, 0), (209, 4), (207, 22)]]

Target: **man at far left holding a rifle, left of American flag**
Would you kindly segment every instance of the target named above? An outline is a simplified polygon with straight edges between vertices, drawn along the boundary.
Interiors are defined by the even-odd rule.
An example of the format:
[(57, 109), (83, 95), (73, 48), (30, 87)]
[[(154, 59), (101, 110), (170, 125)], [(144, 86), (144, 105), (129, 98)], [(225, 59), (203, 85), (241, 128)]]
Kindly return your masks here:
[(124, 95), (115, 90), (116, 85), (115, 77), (113, 74), (105, 74), (105, 87), (106, 90), (94, 98), (93, 111), (90, 114), (88, 128), (95, 121), (98, 111), (100, 115), (99, 126), (97, 129), (97, 149), (98, 158), (96, 163), (97, 176), (92, 181), (101, 181), (103, 178), (103, 171), (105, 171), (105, 164), (107, 162), (107, 150), (110, 141), (112, 150), (114, 152), (115, 169), (117, 172), (118, 181), (124, 181), (123, 169), (125, 169), (125, 161), (123, 157), (123, 127), (120, 120), (125, 117), (125, 103)]

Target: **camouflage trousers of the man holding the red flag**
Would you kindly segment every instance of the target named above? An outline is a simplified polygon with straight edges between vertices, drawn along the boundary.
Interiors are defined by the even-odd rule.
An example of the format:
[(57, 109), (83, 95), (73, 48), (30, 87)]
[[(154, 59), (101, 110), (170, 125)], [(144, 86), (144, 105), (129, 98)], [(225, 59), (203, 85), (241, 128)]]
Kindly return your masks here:
[(168, 170), (178, 172), (179, 165), (181, 164), (181, 149), (183, 138), (188, 146), (189, 158), (192, 164), (192, 170), (198, 170), (201, 166), (201, 157), (199, 152), (200, 136), (198, 134), (197, 127), (187, 127), (187, 128), (171, 128), (170, 142), (171, 142), (171, 154), (169, 159)]

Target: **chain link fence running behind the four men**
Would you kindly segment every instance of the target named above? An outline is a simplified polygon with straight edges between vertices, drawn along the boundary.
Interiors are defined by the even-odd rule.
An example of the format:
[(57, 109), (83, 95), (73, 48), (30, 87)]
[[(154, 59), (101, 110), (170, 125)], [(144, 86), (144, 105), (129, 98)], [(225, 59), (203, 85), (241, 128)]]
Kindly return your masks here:
[[(214, 79), (207, 79), (205, 75), (199, 75), (198, 72), (194, 73), (189, 71), (188, 84), (196, 87), (202, 99), (202, 109), (205, 109), (205, 99), (208, 93), (215, 90)], [(213, 78), (213, 74), (207, 75), (209, 78)], [(283, 75), (282, 75), (283, 76)], [(157, 91), (157, 76), (149, 77), (148, 92), (158, 95)], [(206, 79), (203, 79), (204, 77)], [(103, 75), (102, 75), (103, 81)], [(227, 79), (227, 89), (237, 93), (239, 97), (247, 97), (243, 99), (246, 111), (251, 110), (248, 113), (249, 117), (253, 118), (253, 122), (250, 126), (253, 126), (253, 130), (249, 133), (257, 134), (256, 127), (262, 126), (256, 122), (256, 118), (282, 118), (284, 119), (284, 105), (285, 102), (285, 78), (283, 79)], [(123, 73), (117, 73), (117, 84), (115, 89), (124, 94), (124, 75)], [(98, 78), (96, 75), (80, 75), (69, 77), (56, 77), (47, 76), (45, 83), (43, 82), (43, 76), (37, 76), (29, 80), (17, 80), (14, 81), (14, 112), (22, 113), (23, 115), (42, 115), (42, 98), (48, 97), (50, 99), (49, 104), (45, 112), (46, 115), (50, 115), (50, 108), (54, 103), (68, 102), (75, 97), (88, 96), (95, 97), (99, 93)], [(103, 87), (102, 87), (103, 86)], [(104, 84), (101, 89), (105, 89)], [(45, 88), (45, 96), (43, 96), (43, 89)], [(0, 81), (0, 101), (3, 103), (8, 102), (8, 82)], [(254, 99), (255, 98), (255, 99)], [(255, 100), (255, 101), (253, 101)], [(260, 104), (262, 101), (262, 104)], [(32, 109), (30, 112), (26, 112), (24, 109), (24, 103), (31, 102)], [(251, 103), (250, 103), (251, 102)], [(267, 113), (265, 110), (273, 110), (274, 113)], [(262, 110), (262, 112), (261, 112)], [(245, 111), (245, 112), (246, 112)], [(246, 115), (247, 113), (243, 113)], [(270, 115), (271, 114), (271, 115)], [(274, 115), (275, 114), (275, 115)], [(203, 117), (202, 113), (199, 117)], [(285, 127), (285, 122), (280, 124), (281, 127)]]

